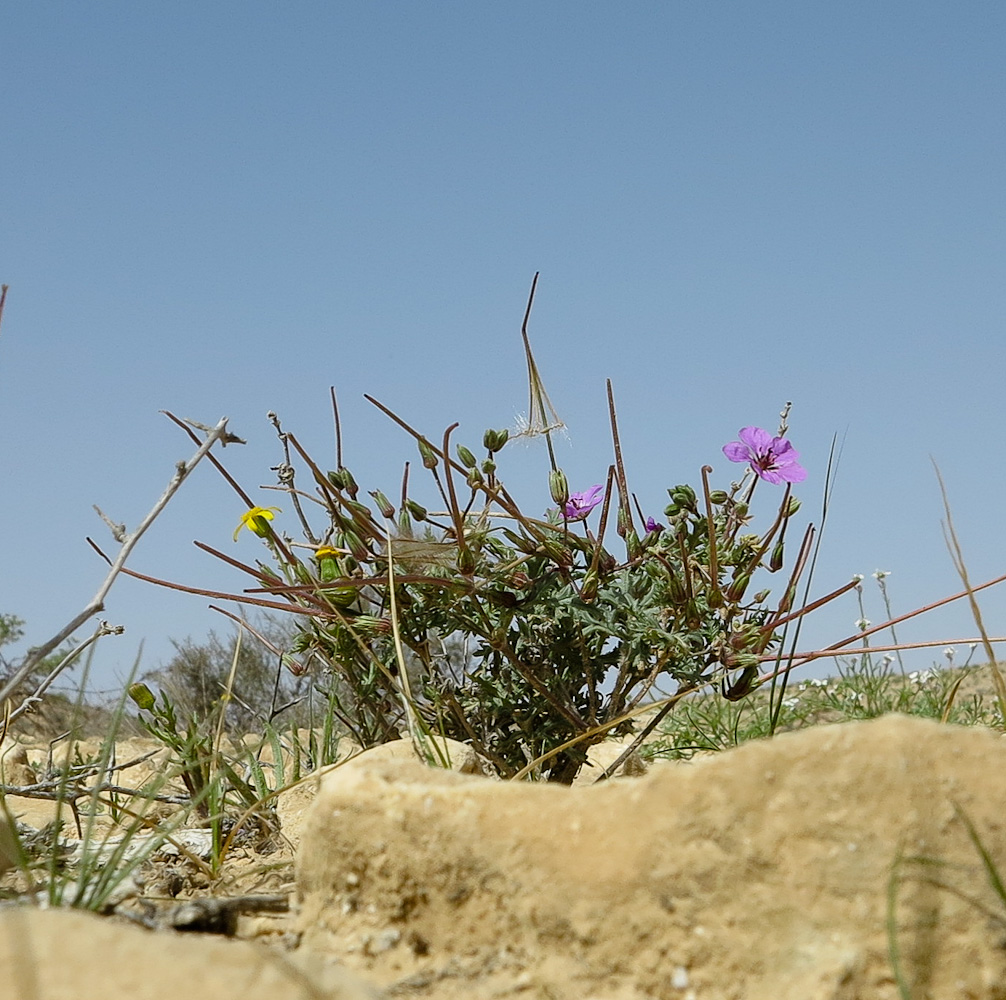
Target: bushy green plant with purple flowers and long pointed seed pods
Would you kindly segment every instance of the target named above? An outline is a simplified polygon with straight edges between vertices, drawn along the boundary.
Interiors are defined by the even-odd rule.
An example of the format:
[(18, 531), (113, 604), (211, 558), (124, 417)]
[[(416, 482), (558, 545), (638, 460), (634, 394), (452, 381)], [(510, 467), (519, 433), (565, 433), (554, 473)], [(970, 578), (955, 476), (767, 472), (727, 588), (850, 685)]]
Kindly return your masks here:
[[(813, 529), (784, 572), (800, 507), (791, 490), (806, 476), (786, 437), (788, 406), (775, 436), (746, 427), (723, 448), (746, 467), (738, 481), (712, 489), (705, 466), (697, 489), (668, 490), (661, 514), (642, 510), (629, 490), (609, 383), (614, 461), (604, 482), (570, 490), (552, 449), (561, 422), (526, 321), (530, 403), (519, 434), (543, 437), (550, 464), (532, 512), (501, 475), (509, 432), (485, 432), (477, 456), (452, 445), (457, 424), (437, 445), (368, 396), (413, 438), (441, 509), (414, 499), (408, 463), (396, 502), (361, 494), (342, 465), (337, 408), (337, 468), (327, 472), (271, 414), (285, 449), (278, 488), (305, 540), (294, 541), (279, 508), (255, 505), (231, 480), (246, 504), (240, 527), (270, 557), (256, 566), (224, 557), (256, 578), (258, 603), (303, 616), (290, 662), (320, 662), (330, 710), (362, 744), (447, 735), (503, 777), (550, 755), (534, 773), (570, 782), (588, 746), (632, 730), (633, 711), (655, 691), (715, 684), (736, 699), (752, 689), (781, 630), (804, 611), (797, 588)], [(295, 485), (295, 462), (310, 490)], [(756, 530), (760, 485), (778, 490), (779, 503)]]

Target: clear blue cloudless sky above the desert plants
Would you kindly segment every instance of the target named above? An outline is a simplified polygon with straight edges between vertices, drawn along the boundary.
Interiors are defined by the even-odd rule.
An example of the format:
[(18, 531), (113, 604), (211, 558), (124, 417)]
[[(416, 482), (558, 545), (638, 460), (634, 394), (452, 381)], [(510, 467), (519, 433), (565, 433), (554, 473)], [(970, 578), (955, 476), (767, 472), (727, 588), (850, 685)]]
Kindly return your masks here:
[[(346, 464), (392, 495), (414, 450), (364, 392), (473, 448), (513, 425), (535, 271), (573, 488), (610, 461), (606, 377), (656, 512), (703, 463), (727, 483), (721, 446), (791, 399), (809, 516), (844, 441), (816, 594), (877, 568), (897, 611), (959, 590), (931, 456), (975, 580), (1006, 572), (1004, 43), (1000, 2), (9, 5), (0, 611), (37, 643), (86, 605), (85, 536), (113, 547), (92, 504), (135, 525), (191, 451), (162, 408), (229, 416), (249, 490), (271, 409), (334, 465), (330, 385)], [(501, 458), (547, 506), (544, 452)], [(192, 545), (257, 557), (241, 510), (200, 468), (131, 565), (244, 586)], [(102, 676), (226, 631), (207, 604), (121, 580)], [(1004, 593), (984, 607), (1006, 633)], [(902, 630), (973, 634), (963, 607)]]

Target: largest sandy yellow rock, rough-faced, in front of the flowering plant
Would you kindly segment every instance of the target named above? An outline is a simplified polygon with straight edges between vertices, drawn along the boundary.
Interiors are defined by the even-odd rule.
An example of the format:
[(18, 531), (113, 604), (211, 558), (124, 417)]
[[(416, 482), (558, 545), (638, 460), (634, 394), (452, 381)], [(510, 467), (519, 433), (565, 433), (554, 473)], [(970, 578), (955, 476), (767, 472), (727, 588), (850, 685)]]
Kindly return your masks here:
[(897, 1000), (904, 856), (940, 862), (898, 869), (911, 995), (1002, 1000), (1006, 905), (955, 807), (1006, 874), (1004, 801), (1001, 739), (901, 716), (572, 789), (361, 759), (304, 829), (302, 948), (432, 1000)]

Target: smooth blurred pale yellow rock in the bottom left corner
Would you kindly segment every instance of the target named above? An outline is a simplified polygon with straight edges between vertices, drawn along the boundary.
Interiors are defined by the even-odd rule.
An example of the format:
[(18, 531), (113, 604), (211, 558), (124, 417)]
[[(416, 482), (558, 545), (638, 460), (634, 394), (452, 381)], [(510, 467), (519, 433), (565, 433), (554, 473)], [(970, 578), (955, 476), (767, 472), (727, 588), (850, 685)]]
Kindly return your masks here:
[(344, 970), (73, 910), (0, 910), (3, 1000), (375, 1000)]

